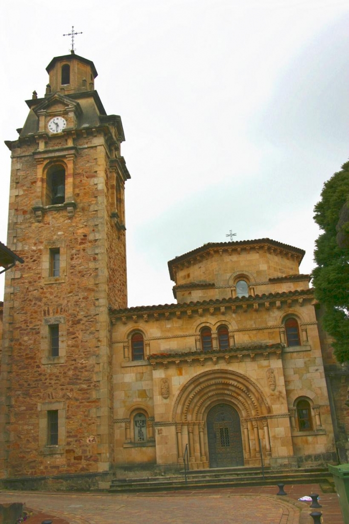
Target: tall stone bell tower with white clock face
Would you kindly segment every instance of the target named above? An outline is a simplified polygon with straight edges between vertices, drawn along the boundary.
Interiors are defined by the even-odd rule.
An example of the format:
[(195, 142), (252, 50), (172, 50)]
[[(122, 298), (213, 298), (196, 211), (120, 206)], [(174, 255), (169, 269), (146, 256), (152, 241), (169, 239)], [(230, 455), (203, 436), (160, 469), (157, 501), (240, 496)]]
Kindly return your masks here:
[(0, 475), (97, 478), (114, 453), (108, 308), (127, 307), (130, 176), (94, 63), (72, 51), (47, 72), (46, 94), (33, 92), (6, 141), (7, 245), (25, 264), (5, 283)]

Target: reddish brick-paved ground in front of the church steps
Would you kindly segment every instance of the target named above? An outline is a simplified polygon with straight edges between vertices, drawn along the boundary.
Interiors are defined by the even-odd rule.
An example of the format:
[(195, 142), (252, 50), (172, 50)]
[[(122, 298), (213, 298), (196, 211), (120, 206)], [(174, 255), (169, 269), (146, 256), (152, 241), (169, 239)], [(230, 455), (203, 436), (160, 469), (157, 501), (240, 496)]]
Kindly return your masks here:
[[(132, 495), (1, 492), (0, 503), (26, 503), (37, 512), (28, 524), (313, 524), (311, 511), (322, 512), (323, 524), (345, 524), (335, 493), (323, 494), (318, 484), (285, 490), (281, 497), (276, 486)], [(298, 501), (312, 493), (320, 494), (322, 508)]]

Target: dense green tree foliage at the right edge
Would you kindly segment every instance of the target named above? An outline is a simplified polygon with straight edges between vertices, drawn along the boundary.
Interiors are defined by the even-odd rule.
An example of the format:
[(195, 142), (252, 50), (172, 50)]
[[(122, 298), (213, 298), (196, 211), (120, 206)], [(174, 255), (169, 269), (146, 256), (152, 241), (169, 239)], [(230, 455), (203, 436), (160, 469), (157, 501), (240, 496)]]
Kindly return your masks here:
[(323, 233), (316, 241), (315, 296), (324, 306), (323, 327), (334, 338), (339, 362), (349, 361), (349, 162), (324, 183), (314, 220)]

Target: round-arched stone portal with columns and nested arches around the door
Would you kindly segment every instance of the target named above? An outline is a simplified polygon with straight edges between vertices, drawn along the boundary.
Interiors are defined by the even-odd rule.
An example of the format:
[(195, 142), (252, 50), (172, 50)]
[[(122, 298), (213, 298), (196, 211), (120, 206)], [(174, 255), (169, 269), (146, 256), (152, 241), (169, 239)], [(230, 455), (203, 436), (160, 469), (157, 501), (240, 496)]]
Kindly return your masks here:
[(183, 385), (175, 400), (178, 462), (187, 450), (189, 467), (241, 467), (271, 456), (268, 400), (251, 378), (211, 370)]

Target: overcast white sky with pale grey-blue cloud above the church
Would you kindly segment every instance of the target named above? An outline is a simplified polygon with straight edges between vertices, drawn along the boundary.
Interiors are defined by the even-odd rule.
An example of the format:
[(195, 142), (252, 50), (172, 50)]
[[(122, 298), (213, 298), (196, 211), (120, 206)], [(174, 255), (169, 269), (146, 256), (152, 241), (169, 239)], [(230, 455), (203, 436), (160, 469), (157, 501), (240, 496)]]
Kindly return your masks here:
[[(206, 242), (306, 249), (313, 206), (348, 159), (349, 0), (17, 0), (2, 4), (0, 240), (10, 152), (45, 70), (77, 54), (122, 118), (129, 306), (174, 302), (167, 261)], [(1, 145), (3, 144), (3, 145)], [(3, 284), (1, 284), (1, 288)], [(2, 290), (1, 295), (2, 296)]]

